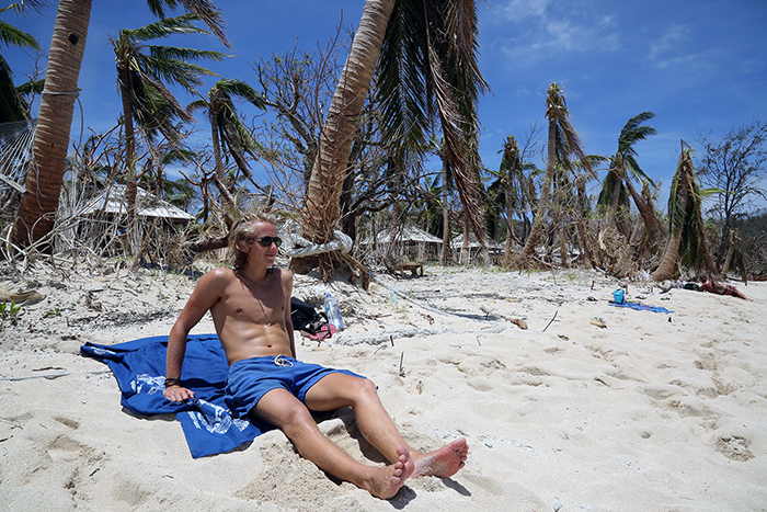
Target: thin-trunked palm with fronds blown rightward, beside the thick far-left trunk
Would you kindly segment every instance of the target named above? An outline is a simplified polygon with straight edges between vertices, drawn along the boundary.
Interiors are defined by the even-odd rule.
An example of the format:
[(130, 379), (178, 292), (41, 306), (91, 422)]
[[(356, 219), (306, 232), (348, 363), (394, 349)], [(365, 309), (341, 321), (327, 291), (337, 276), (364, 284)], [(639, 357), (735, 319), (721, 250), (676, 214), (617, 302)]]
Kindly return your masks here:
[(197, 19), (196, 14), (165, 18), (140, 29), (123, 29), (117, 38), (110, 39), (115, 52), (117, 83), (123, 100), (129, 224), (134, 220), (136, 205), (136, 127), (148, 140), (159, 133), (170, 141), (178, 141), (180, 133), (176, 121), (192, 121), (192, 116), (179, 104), (165, 82), (194, 93), (196, 87), (203, 83), (202, 77), (214, 73), (190, 60), (224, 58), (219, 52), (148, 43), (179, 34), (207, 34), (207, 31), (193, 24)]

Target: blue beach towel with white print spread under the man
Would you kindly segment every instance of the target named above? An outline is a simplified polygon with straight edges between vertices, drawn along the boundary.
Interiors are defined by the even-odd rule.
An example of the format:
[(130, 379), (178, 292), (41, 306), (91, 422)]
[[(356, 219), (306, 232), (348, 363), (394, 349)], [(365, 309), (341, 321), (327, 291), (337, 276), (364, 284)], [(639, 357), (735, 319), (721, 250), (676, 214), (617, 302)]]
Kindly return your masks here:
[(123, 394), (123, 407), (144, 416), (175, 413), (194, 458), (229, 452), (274, 428), (239, 420), (229, 412), (224, 400), (229, 365), (216, 334), (188, 338), (181, 377), (195, 398), (185, 403), (162, 396), (167, 350), (167, 335), (80, 348), (82, 354), (110, 366)]

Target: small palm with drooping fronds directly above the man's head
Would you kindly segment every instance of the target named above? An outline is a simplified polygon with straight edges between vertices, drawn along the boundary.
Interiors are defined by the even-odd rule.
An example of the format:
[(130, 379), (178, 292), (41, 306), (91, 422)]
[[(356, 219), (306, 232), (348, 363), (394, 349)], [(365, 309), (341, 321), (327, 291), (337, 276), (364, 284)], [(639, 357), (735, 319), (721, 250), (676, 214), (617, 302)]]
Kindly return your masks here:
[[(205, 110), (208, 114), (213, 151), (216, 160), (215, 184), (225, 203), (231, 209), (234, 206), (234, 200), (226, 186), (221, 153), (227, 151), (240, 171), (255, 184), (253, 174), (245, 161), (245, 153), (253, 153), (255, 141), (237, 115), (234, 99), (243, 99), (262, 110), (264, 110), (264, 102), (252, 87), (243, 81), (233, 79), (217, 81), (206, 96), (190, 103), (186, 106), (186, 112), (192, 114), (195, 111)], [(228, 216), (228, 214), (225, 215)]]

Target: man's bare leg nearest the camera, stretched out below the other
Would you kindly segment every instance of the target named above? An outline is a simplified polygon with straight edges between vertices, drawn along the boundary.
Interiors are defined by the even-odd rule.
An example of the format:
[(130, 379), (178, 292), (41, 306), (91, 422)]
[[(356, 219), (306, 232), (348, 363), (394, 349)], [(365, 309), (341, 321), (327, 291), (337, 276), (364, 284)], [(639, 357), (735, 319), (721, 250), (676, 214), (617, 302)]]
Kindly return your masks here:
[(393, 498), (413, 474), (414, 464), (407, 445), (394, 447), (396, 455), (390, 466), (371, 467), (357, 463), (320, 432), (306, 406), (285, 389), (268, 391), (254, 412), (285, 432), (302, 457), (378, 498)]

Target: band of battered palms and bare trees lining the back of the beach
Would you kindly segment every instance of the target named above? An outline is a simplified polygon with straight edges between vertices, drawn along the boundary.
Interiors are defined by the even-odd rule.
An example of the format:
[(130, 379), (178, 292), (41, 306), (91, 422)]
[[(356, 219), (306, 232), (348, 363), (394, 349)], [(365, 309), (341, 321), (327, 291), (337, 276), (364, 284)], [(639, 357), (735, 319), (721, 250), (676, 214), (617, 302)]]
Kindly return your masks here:
[[(699, 159), (683, 141), (663, 211), (655, 204), (660, 183), (642, 169), (655, 114), (630, 117), (613, 155), (589, 155), (561, 83), (551, 83), (541, 102), (546, 136), (537, 128), (507, 134), (496, 148), (499, 168), (483, 166), (477, 105), (489, 86), (477, 64), (474, 1), (367, 0), (343, 66), (339, 31), (321, 50), (265, 57), (250, 80), (217, 78), (207, 91), (202, 79), (225, 55), (178, 46), (178, 37), (159, 42), (211, 33), (226, 44), (220, 11), (203, 0), (147, 5), (158, 21), (111, 39), (123, 100), (114, 128), (70, 150), (67, 91), (77, 91), (90, 1), (59, 2), (34, 158), (18, 184), (30, 193), (3, 189), (5, 261), (79, 248), (183, 266), (225, 247), (232, 220), (257, 207), (279, 213), (298, 247), (332, 246), (291, 259), (294, 270), (319, 269), (324, 278), (339, 268), (365, 277), (401, 250), (370, 240), (408, 225), (431, 236), (427, 243), (442, 240), (439, 250), (412, 257), (445, 265), (583, 265), (619, 277), (644, 271), (657, 281), (767, 273), (764, 234), (745, 223), (762, 214), (748, 209), (749, 200), (765, 196), (767, 127), (759, 121), (721, 140), (701, 136)], [(179, 8), (183, 14), (168, 15)], [(0, 43), (36, 47), (5, 24)], [(5, 111), (26, 118), (24, 90), (0, 93)], [(179, 94), (193, 101), (183, 107)], [(205, 140), (192, 148), (197, 125)], [(126, 190), (124, 214), (77, 220), (92, 216), (93, 201), (111, 186)], [(141, 190), (163, 208), (178, 207), (176, 220), (142, 213)], [(333, 244), (344, 237), (351, 252)]]

